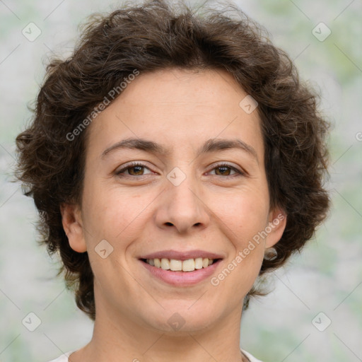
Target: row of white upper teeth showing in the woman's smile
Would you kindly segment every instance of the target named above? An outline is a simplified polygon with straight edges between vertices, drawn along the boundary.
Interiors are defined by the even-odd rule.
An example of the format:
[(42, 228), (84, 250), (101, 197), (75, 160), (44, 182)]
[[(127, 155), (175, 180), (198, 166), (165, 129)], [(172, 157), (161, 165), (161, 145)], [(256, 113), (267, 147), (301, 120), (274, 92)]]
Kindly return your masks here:
[(153, 267), (162, 268), (173, 271), (194, 271), (194, 269), (202, 269), (209, 267), (214, 262), (214, 259), (208, 257), (197, 257), (196, 259), (177, 260), (166, 258), (146, 259), (146, 262)]

